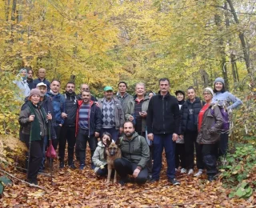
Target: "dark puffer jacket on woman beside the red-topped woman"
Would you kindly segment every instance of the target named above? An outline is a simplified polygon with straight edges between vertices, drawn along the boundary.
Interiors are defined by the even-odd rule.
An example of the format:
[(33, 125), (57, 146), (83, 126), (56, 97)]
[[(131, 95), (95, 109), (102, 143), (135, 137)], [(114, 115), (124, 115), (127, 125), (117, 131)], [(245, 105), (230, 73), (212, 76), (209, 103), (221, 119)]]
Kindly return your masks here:
[(181, 108), (181, 130), (180, 134), (185, 134), (187, 130), (198, 130), (198, 114), (202, 109), (202, 106), (206, 102), (202, 102), (200, 98), (196, 97), (194, 102), (190, 102), (189, 99), (184, 102)]

